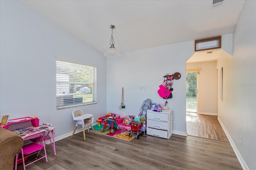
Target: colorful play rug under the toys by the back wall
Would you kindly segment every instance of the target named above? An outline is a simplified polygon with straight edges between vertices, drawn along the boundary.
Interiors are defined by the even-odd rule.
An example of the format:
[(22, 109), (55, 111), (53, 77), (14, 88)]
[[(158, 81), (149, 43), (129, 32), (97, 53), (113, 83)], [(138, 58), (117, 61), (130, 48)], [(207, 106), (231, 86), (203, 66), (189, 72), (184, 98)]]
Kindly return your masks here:
[(96, 133), (97, 134), (100, 134), (100, 135), (107, 135), (107, 136), (110, 136), (110, 137), (114, 137), (116, 139), (122, 139), (124, 141), (130, 141), (132, 140), (133, 138), (136, 137), (136, 135), (132, 135), (132, 137), (129, 137), (129, 133), (130, 131), (126, 131), (126, 130), (122, 130), (122, 129), (118, 129), (118, 130), (114, 130), (114, 133), (110, 133), (110, 129), (108, 127), (106, 127), (105, 131), (102, 132), (101, 130), (96, 130)]

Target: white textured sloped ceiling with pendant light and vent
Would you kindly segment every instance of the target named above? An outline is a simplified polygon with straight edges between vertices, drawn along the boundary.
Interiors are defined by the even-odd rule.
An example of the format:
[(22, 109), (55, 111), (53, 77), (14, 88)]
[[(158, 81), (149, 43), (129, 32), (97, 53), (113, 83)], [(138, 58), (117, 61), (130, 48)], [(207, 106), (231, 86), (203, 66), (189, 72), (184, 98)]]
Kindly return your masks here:
[(102, 54), (111, 29), (120, 52), (233, 33), (244, 0), (21, 0)]

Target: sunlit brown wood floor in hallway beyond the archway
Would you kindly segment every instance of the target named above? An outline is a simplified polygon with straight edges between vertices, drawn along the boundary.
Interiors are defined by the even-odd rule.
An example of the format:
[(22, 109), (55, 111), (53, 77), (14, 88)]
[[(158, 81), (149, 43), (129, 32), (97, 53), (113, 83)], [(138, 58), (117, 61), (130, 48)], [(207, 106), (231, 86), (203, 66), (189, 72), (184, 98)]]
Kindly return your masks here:
[(229, 142), (218, 116), (187, 112), (186, 127), (188, 135)]

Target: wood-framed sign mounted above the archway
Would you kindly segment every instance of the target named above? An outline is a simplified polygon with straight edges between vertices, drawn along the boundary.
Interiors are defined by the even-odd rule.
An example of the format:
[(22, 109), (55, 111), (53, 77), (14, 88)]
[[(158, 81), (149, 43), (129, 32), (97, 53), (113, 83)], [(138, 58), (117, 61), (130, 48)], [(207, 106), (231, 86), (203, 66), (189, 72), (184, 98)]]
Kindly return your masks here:
[(221, 36), (195, 40), (195, 51), (221, 48)]

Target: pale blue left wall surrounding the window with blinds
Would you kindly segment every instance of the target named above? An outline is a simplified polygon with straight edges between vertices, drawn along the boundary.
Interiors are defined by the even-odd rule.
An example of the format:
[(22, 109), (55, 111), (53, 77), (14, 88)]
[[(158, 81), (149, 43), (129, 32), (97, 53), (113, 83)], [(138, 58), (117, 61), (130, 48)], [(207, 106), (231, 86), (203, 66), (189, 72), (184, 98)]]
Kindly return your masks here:
[[(72, 132), (72, 111), (106, 114), (106, 57), (20, 1), (0, 1), (0, 116), (37, 115), (56, 137)], [(98, 104), (56, 110), (55, 57), (97, 65)]]

